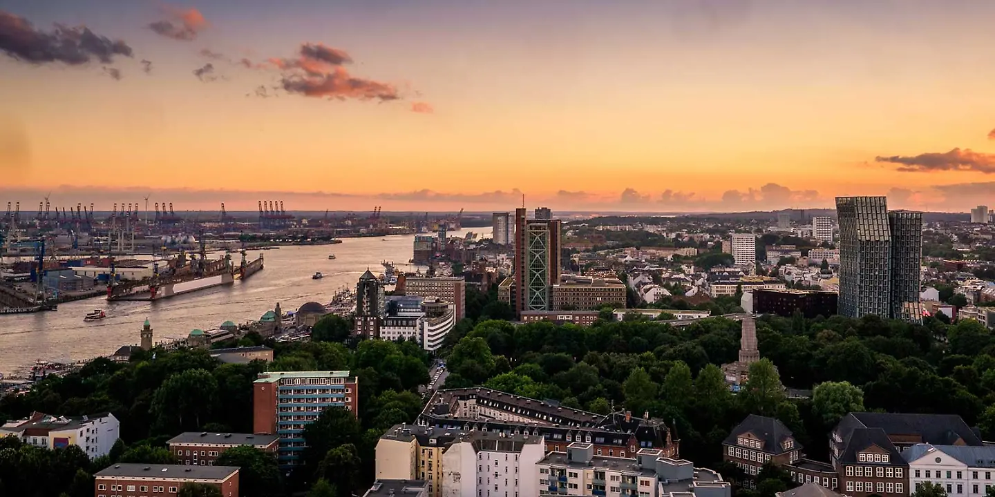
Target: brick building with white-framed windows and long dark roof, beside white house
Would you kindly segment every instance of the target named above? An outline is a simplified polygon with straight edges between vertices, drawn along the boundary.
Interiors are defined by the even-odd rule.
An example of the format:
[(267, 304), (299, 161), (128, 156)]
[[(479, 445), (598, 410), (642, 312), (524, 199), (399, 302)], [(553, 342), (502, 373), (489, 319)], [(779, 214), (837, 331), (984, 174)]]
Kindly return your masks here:
[(900, 450), (916, 443), (983, 445), (958, 415), (847, 414), (830, 435), (840, 490), (851, 497), (908, 495), (908, 462)]

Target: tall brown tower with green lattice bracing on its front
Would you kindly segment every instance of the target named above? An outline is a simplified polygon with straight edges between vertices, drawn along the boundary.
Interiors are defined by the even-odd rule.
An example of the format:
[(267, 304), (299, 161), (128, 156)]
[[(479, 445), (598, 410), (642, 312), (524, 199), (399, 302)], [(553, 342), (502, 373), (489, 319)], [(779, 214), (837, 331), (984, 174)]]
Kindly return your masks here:
[(514, 222), (515, 315), (520, 317), (523, 310), (552, 310), (550, 288), (560, 275), (560, 222), (526, 219), (523, 208), (515, 210)]

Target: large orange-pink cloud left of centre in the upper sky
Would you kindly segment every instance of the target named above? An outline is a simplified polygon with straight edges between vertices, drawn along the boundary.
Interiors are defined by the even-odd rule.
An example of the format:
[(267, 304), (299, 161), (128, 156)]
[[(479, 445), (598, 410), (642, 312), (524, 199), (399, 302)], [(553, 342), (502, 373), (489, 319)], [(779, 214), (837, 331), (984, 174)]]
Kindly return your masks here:
[[(271, 58), (269, 67), (283, 72), (281, 86), (289, 93), (333, 100), (396, 100), (397, 86), (356, 78), (343, 67), (352, 58), (339, 49), (322, 44), (304, 43), (297, 59)], [(250, 63), (251, 64), (251, 63)]]

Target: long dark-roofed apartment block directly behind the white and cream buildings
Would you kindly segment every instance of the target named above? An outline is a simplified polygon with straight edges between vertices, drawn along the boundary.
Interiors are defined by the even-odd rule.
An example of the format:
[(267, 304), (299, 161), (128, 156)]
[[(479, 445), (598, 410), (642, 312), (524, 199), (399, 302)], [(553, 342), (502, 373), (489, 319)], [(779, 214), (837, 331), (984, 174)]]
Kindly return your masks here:
[(632, 457), (640, 448), (660, 448), (677, 457), (681, 445), (663, 420), (649, 414), (594, 414), (484, 387), (435, 392), (418, 423), (454, 431), (530, 433), (545, 439), (547, 451), (584, 441), (594, 443), (598, 455), (611, 457)]

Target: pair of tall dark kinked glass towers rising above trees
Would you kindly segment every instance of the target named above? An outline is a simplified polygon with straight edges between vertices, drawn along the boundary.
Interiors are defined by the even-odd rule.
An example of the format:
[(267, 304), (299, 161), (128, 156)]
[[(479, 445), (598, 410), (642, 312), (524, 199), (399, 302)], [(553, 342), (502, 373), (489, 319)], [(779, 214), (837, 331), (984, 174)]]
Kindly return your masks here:
[(921, 322), (921, 213), (889, 213), (885, 197), (837, 197), (836, 211), (840, 314)]

